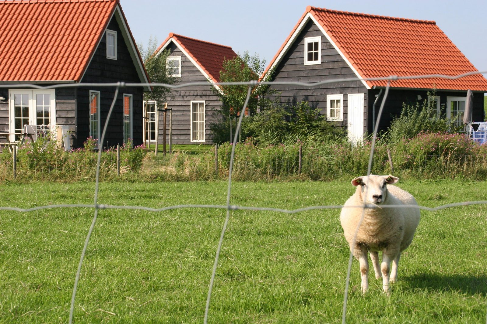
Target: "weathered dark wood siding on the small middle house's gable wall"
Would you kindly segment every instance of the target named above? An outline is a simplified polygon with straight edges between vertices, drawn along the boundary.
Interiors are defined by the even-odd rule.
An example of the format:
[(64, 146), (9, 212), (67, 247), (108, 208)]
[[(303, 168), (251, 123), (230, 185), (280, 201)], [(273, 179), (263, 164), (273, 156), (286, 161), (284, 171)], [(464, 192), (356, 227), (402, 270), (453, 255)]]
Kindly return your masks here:
[[(190, 82), (207, 82), (205, 75), (190, 61), (190, 59), (174, 44), (167, 47), (170, 56), (181, 56), (181, 78), (177, 84)], [(212, 143), (210, 126), (212, 123), (222, 119), (222, 102), (211, 91), (211, 85), (188, 86), (172, 91), (168, 98), (168, 108), (172, 109), (172, 142), (174, 144), (200, 144), (201, 142), (190, 141), (190, 102), (205, 102), (205, 144)], [(162, 108), (162, 107), (159, 107)], [(169, 117), (166, 120), (166, 142), (169, 142)], [(163, 140), (163, 116), (159, 116), (159, 142)]]

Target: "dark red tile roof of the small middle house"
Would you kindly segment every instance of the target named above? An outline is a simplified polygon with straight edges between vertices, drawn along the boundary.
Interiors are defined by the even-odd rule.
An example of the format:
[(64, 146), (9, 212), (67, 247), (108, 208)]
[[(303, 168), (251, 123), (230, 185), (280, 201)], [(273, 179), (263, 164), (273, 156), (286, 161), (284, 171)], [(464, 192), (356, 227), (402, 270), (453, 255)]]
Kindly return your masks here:
[(213, 82), (220, 81), (220, 70), (222, 69), (224, 60), (231, 60), (237, 56), (237, 53), (229, 46), (210, 43), (174, 33), (169, 33), (169, 36), (162, 42), (156, 52), (164, 50), (169, 45), (170, 40), (186, 51), (189, 57), (194, 60)]

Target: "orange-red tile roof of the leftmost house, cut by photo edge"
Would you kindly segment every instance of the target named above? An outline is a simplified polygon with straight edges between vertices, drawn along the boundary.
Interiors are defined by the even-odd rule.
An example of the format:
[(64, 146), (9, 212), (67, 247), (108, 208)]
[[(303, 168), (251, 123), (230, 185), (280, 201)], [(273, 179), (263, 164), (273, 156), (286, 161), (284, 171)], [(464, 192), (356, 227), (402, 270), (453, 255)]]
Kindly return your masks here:
[(0, 81), (79, 82), (117, 6), (118, 0), (0, 0)]

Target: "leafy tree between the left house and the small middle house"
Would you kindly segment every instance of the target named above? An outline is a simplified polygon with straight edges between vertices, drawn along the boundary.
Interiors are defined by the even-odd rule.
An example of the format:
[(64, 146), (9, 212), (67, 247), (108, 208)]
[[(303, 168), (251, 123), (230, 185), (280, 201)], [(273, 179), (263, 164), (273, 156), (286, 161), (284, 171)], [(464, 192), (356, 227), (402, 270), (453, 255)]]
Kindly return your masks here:
[[(164, 83), (172, 85), (175, 82), (175, 78), (171, 77), (171, 71), (169, 71), (167, 65), (167, 59), (169, 56), (169, 50), (162, 51), (157, 54), (157, 38), (150, 36), (147, 47), (144, 48), (143, 44), (137, 45), (144, 61), (144, 66), (149, 75), (150, 83)], [(158, 106), (161, 106), (163, 102), (166, 102), (171, 89), (164, 86), (155, 86), (152, 91), (144, 92), (144, 100), (156, 101)]]

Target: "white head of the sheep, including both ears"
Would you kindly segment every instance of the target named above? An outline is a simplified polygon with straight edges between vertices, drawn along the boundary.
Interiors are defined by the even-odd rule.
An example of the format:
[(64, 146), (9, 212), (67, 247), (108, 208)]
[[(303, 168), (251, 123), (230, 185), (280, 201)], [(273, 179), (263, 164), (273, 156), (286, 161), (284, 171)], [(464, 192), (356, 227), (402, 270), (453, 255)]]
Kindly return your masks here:
[(381, 204), (387, 197), (387, 185), (394, 184), (399, 180), (392, 175), (374, 175), (356, 177), (352, 185), (360, 186), (362, 201), (374, 204)]

